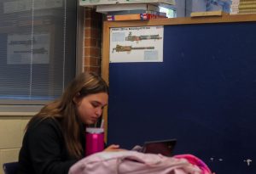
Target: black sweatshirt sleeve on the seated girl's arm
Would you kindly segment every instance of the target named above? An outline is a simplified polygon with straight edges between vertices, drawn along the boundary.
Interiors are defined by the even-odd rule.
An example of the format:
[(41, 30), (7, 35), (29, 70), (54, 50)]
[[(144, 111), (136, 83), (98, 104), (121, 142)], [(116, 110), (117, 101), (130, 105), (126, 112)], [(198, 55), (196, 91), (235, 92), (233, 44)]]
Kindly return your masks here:
[(77, 162), (65, 160), (68, 156), (66, 145), (55, 121), (41, 122), (27, 136), (31, 165), (36, 174), (67, 174), (69, 168)]

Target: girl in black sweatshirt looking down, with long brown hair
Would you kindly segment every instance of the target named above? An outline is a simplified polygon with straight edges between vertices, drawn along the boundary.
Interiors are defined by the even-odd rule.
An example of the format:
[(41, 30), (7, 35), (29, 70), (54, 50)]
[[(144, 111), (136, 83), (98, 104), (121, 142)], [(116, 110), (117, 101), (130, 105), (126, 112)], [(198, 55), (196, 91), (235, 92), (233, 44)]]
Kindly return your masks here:
[[(67, 174), (84, 157), (85, 127), (96, 123), (107, 104), (108, 85), (100, 76), (77, 76), (60, 99), (45, 105), (28, 122), (18, 173)], [(119, 150), (119, 145), (105, 150)]]

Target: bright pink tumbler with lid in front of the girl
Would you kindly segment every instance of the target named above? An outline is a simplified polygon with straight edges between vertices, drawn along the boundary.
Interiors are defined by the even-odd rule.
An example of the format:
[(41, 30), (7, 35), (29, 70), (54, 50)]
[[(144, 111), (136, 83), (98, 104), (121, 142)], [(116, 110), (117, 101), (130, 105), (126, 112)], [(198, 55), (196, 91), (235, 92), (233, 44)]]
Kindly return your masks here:
[(100, 127), (86, 128), (85, 155), (101, 152), (104, 149), (104, 129)]

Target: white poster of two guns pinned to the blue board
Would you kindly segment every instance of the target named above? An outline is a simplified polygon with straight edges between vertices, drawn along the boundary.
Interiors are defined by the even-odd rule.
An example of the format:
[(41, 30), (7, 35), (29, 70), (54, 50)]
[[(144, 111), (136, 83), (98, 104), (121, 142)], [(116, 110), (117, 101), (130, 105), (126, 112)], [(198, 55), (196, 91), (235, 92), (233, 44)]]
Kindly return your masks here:
[(162, 62), (163, 35), (162, 25), (111, 28), (109, 62)]

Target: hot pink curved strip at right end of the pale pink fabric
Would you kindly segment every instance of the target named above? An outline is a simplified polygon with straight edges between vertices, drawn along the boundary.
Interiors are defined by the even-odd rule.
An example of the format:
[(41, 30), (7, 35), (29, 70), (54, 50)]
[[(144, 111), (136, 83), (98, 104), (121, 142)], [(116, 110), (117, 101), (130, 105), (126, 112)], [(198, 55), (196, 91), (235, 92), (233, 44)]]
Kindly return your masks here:
[(174, 158), (177, 159), (186, 159), (189, 161), (189, 163), (191, 163), (192, 165), (198, 166), (201, 171), (202, 174), (211, 174), (212, 171), (208, 168), (208, 166), (199, 158), (195, 157), (192, 154), (178, 154), (175, 155)]

